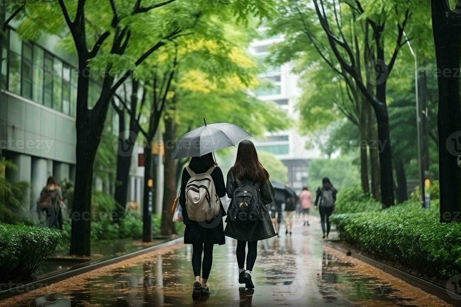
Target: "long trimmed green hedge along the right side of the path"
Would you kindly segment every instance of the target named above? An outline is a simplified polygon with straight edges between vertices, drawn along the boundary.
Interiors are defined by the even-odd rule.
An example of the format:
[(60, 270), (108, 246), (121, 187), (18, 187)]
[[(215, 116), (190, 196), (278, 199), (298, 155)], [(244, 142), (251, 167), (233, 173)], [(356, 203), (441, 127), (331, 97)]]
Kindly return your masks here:
[(331, 222), (340, 238), (379, 259), (430, 277), (461, 272), (461, 223), (439, 223), (437, 201), (431, 209), (407, 202), (381, 212), (333, 214)]

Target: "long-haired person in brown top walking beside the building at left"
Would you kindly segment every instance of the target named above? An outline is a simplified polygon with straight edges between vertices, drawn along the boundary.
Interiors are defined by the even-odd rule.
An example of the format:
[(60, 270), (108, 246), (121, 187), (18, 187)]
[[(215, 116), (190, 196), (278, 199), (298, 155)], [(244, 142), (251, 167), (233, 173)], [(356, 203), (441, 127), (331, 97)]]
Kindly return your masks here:
[[(37, 210), (39, 214), (39, 219), (41, 217), (41, 212), (48, 210), (46, 212), (46, 226), (54, 226), (56, 229), (62, 228), (62, 213), (61, 213), (61, 204), (62, 204), (62, 191), (59, 183), (53, 176), (49, 176), (47, 179), (47, 185), (43, 187), (40, 192), (40, 198), (37, 201)], [(51, 214), (49, 210), (53, 210), (54, 214)]]

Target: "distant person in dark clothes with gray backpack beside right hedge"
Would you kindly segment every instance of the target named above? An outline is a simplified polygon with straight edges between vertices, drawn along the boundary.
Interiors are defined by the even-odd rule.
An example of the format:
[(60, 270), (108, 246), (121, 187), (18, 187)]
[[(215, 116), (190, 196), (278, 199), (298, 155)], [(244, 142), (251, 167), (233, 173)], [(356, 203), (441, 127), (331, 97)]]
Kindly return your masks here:
[[(320, 224), (322, 225), (323, 237), (328, 238), (330, 233), (330, 215), (335, 209), (336, 189), (330, 182), (328, 177), (322, 179), (322, 187), (317, 189), (317, 196), (315, 197), (315, 210), (319, 209)], [(325, 222), (326, 222), (326, 235), (325, 235)]]

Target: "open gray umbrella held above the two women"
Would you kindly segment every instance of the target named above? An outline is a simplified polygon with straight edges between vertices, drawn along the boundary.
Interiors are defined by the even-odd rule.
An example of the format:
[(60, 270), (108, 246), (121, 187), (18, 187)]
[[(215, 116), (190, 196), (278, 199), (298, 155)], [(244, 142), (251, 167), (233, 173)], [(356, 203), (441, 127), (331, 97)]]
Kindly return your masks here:
[(251, 136), (241, 127), (227, 122), (209, 125), (205, 123), (205, 126), (195, 128), (184, 134), (171, 151), (171, 156), (173, 156), (173, 160), (203, 156), (212, 151), (235, 146)]

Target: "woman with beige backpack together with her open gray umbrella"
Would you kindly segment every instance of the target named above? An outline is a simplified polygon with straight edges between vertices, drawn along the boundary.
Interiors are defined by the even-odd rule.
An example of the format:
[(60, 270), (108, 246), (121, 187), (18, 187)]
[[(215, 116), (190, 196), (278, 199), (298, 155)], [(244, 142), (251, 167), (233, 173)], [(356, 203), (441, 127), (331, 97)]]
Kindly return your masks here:
[[(225, 244), (222, 217), (226, 213), (220, 200), (220, 197), (225, 196), (225, 183), (223, 173), (213, 159), (212, 152), (236, 145), (242, 139), (250, 136), (251, 134), (235, 125), (228, 123), (207, 125), (205, 122), (205, 126), (184, 134), (171, 151), (173, 159), (192, 157), (189, 165), (183, 170), (179, 203), (183, 210), (183, 223), (186, 225), (186, 229), (184, 230), (184, 244), (192, 244), (193, 250), (192, 269), (194, 271), (195, 282), (192, 290), (192, 299), (194, 301), (199, 300), (201, 295), (210, 294), (207, 280), (213, 263), (213, 245)], [(206, 186), (198, 184), (198, 180), (192, 179), (195, 182), (191, 182), (192, 176), (194, 178), (201, 178), (201, 180), (204, 180), (203, 178), (213, 180), (213, 183), (210, 182), (210, 184), (214, 185), (214, 192), (219, 203), (218, 213), (214, 216), (207, 216), (200, 219), (196, 218), (198, 216), (195, 215), (197, 212), (188, 212), (190, 202), (207, 200), (210, 203), (210, 196), (207, 194), (210, 191), (208, 191)], [(205, 197), (201, 197), (202, 200), (200, 200), (200, 197), (198, 200), (194, 200), (191, 198), (194, 194), (205, 195)], [(202, 254), (203, 261), (201, 259)]]

